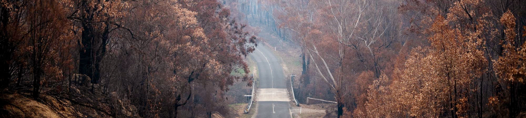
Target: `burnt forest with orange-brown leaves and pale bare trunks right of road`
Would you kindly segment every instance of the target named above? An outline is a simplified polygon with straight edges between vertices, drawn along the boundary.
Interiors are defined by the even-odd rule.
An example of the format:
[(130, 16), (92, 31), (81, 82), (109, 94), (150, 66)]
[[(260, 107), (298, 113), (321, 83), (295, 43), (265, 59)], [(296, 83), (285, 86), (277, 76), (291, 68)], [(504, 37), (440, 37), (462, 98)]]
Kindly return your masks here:
[(334, 100), (338, 117), (526, 116), (525, 1), (259, 4), (301, 47), (300, 103)]

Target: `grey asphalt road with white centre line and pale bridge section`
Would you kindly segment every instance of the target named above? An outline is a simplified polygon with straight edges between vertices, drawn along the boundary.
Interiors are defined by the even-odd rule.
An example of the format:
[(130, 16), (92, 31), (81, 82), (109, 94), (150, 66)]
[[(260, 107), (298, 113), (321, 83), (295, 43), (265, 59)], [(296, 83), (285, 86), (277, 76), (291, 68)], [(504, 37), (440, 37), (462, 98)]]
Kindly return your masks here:
[(259, 45), (254, 53), (250, 54), (259, 71), (256, 117), (291, 117), (283, 68), (272, 51), (274, 50)]

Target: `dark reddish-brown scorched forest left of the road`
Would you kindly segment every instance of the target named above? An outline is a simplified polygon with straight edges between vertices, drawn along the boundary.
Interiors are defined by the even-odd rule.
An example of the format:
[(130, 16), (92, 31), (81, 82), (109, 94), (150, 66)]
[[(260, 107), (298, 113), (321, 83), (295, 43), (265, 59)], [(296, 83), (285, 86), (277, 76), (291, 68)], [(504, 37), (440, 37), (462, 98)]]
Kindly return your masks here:
[[(60, 117), (193, 117), (224, 113), (234, 81), (251, 85), (246, 74), (230, 73), (249, 72), (244, 58), (256, 37), (215, 0), (0, 4), (0, 106), (18, 98), (52, 106), (56, 99), (67, 101), (66, 110), (95, 110)], [(125, 112), (129, 105), (137, 113)]]

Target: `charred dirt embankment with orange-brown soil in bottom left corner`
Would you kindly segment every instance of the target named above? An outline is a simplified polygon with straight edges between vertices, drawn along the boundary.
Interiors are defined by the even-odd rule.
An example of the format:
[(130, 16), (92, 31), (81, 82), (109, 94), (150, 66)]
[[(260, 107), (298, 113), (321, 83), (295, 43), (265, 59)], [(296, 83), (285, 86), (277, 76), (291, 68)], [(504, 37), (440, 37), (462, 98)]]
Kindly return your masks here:
[(98, 85), (92, 91), (72, 84), (70, 89), (41, 94), (38, 101), (27, 92), (4, 91), (0, 95), (0, 117), (140, 117), (129, 100), (97, 92), (100, 89)]

